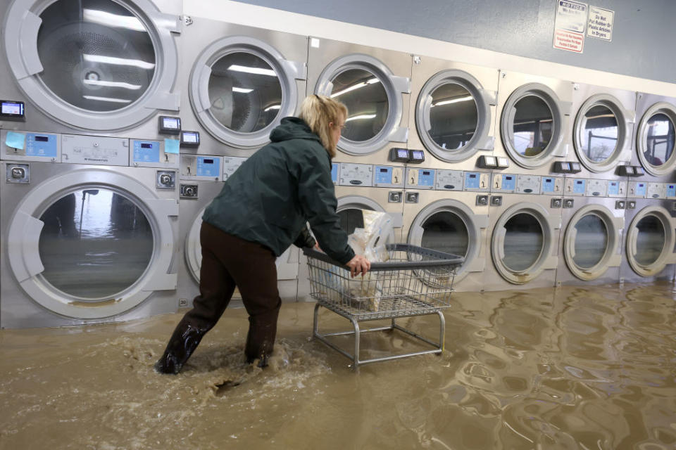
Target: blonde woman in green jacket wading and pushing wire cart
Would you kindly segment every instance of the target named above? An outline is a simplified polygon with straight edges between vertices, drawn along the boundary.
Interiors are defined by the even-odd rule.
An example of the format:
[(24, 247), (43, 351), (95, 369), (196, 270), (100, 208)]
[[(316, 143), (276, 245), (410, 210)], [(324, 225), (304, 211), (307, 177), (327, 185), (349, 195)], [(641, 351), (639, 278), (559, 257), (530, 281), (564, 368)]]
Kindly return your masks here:
[(161, 359), (159, 373), (178, 373), (204, 334), (230, 302), (235, 286), (249, 313), (244, 354), (267, 364), (277, 333), (282, 300), (275, 259), (289, 245), (316, 245), (352, 276), (370, 269), (368, 259), (347, 244), (336, 214), (331, 158), (347, 117), (342, 103), (313, 95), (299, 117), (284, 117), (270, 143), (237, 169), (202, 217), (202, 266), (194, 307), (178, 323)]

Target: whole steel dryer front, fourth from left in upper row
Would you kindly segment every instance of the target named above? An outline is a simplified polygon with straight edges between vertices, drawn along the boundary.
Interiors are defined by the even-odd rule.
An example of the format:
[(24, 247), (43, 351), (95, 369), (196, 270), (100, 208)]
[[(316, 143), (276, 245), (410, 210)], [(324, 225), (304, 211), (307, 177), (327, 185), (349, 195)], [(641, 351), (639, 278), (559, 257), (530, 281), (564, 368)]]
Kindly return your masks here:
[(498, 74), (494, 68), (413, 56), (408, 148), (424, 150), (423, 167), (479, 172), (496, 167), (487, 157), (495, 141)]

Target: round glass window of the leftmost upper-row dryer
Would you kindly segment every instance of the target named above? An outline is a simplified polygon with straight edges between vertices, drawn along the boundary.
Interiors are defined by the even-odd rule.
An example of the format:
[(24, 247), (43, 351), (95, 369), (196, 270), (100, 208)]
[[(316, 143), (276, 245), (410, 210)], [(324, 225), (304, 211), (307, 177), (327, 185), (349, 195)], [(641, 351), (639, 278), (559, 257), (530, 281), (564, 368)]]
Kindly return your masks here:
[(42, 14), (39, 77), (77, 108), (113, 111), (143, 96), (155, 75), (146, 25), (111, 0), (55, 1)]

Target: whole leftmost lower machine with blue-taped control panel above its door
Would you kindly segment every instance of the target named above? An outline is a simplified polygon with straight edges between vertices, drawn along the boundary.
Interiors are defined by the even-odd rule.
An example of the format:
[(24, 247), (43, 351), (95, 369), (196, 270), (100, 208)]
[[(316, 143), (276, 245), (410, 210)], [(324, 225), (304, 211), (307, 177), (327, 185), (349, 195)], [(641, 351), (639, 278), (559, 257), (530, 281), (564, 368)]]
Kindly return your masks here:
[(3, 131), (1, 326), (176, 311), (177, 169), (160, 143), (13, 132), (25, 148)]

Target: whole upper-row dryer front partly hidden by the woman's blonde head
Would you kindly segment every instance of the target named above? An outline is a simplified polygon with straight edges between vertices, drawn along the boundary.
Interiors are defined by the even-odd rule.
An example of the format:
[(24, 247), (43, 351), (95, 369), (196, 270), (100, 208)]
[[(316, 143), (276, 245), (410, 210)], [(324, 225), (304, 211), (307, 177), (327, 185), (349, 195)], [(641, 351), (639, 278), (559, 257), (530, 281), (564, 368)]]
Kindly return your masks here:
[(406, 148), (409, 53), (311, 37), (308, 94), (330, 96), (349, 111), (334, 162), (392, 165), (390, 150)]

